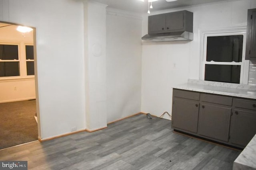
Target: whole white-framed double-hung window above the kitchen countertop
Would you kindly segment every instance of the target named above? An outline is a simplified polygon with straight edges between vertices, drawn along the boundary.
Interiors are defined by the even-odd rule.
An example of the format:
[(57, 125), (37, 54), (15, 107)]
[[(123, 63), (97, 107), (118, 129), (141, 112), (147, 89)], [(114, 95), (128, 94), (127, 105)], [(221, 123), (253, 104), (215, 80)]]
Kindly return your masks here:
[(202, 32), (201, 79), (248, 84), (245, 30)]

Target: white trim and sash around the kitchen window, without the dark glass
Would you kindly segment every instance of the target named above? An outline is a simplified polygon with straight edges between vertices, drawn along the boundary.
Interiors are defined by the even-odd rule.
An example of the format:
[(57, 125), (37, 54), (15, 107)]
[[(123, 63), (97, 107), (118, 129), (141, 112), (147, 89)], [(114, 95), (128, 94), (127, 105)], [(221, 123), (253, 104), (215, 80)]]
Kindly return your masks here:
[[(205, 64), (241, 65), (240, 84), (248, 84), (249, 61), (245, 60), (246, 27), (224, 28), (218, 30), (199, 31), (200, 37), (200, 80), (204, 80)], [(243, 35), (242, 62), (212, 62), (206, 61), (208, 36)]]

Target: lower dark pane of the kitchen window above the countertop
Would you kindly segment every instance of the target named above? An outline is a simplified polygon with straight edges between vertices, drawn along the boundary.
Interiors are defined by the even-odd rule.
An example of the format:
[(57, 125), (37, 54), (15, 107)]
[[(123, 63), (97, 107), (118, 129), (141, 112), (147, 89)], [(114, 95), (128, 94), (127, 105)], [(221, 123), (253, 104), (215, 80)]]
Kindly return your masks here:
[(240, 65), (205, 64), (204, 80), (240, 83)]

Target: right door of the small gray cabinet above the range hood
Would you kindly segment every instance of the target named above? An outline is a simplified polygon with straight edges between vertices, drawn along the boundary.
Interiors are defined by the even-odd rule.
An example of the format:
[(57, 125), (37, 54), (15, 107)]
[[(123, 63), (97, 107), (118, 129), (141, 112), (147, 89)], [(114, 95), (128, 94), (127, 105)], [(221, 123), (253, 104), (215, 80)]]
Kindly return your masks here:
[(165, 28), (170, 31), (178, 31), (184, 29), (184, 13), (174, 12), (171, 14), (166, 14), (165, 16)]

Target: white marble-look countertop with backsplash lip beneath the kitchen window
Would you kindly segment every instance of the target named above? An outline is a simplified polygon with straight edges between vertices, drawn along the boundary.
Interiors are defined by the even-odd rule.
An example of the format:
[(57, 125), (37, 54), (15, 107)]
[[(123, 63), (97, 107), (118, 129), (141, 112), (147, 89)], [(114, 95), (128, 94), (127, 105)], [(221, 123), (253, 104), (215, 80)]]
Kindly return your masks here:
[(189, 79), (187, 83), (174, 86), (173, 88), (256, 99), (256, 86), (246, 84), (233, 84)]

